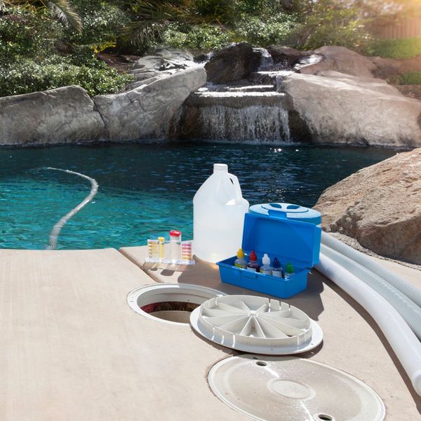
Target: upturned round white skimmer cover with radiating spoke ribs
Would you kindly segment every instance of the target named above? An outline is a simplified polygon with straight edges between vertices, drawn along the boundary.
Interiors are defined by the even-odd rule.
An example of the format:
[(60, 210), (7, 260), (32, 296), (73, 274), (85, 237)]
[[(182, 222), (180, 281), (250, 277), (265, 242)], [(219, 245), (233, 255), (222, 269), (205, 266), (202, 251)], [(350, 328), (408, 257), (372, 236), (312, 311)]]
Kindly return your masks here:
[(296, 354), (319, 345), (319, 325), (297, 307), (255, 295), (211, 298), (194, 309), (193, 328), (208, 340), (256, 354)]

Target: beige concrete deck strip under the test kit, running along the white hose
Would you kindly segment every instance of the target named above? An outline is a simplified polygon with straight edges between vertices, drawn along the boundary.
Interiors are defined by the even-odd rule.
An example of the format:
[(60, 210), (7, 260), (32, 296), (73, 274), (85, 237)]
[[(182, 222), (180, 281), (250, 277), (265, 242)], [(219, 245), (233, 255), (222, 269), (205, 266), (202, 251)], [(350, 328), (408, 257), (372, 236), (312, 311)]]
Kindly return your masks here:
[[(198, 283), (226, 293), (254, 294), (222, 283), (216, 265), (200, 261), (189, 267), (145, 265), (146, 248), (121, 248), (120, 251), (158, 282)], [(385, 260), (377, 261), (386, 263), (388, 269), (420, 286), (419, 271)], [(386, 420), (421, 420), (420, 396), (413, 392), (381, 330), (357, 302), (315, 270), (309, 275), (307, 290), (283, 301), (302, 309), (323, 329), (322, 345), (302, 356), (345, 370), (366, 382), (385, 402)]]

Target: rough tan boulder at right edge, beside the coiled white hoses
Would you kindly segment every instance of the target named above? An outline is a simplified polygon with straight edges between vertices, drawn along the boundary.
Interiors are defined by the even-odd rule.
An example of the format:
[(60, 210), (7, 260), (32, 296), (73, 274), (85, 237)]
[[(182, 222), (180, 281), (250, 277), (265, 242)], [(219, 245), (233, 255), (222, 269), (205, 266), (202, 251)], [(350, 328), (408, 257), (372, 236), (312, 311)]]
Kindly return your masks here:
[(421, 265), (421, 148), (350, 175), (323, 192), (314, 207), (326, 231)]

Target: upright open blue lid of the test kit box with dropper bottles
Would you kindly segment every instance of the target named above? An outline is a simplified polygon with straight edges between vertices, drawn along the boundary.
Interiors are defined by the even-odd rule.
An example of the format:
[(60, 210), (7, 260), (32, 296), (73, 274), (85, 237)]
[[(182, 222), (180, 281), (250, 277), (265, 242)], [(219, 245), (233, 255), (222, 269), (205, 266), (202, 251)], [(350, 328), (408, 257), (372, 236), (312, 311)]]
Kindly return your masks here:
[(310, 268), (319, 263), (321, 228), (308, 222), (277, 218), (263, 213), (244, 216), (242, 247), (246, 253), (255, 250), (261, 261), (267, 253), (271, 262), (290, 262)]

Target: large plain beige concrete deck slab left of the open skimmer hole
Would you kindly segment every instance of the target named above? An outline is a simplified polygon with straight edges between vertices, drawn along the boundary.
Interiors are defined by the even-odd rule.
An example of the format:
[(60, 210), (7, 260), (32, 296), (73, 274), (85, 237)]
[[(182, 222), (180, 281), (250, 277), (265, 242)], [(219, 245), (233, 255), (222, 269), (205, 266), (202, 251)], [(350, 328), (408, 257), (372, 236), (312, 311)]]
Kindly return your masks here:
[(229, 349), (128, 307), (153, 282), (113, 249), (0, 250), (0, 420), (244, 420), (206, 382)]

